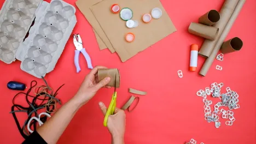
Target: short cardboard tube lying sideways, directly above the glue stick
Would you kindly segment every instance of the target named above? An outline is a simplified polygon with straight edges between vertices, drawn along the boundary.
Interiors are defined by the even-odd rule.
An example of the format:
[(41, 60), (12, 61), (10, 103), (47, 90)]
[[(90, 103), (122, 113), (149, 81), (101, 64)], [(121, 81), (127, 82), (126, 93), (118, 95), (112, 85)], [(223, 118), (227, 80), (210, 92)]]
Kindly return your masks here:
[(202, 25), (200, 23), (191, 22), (189, 26), (189, 33), (206, 39), (214, 40), (218, 32), (219, 28)]

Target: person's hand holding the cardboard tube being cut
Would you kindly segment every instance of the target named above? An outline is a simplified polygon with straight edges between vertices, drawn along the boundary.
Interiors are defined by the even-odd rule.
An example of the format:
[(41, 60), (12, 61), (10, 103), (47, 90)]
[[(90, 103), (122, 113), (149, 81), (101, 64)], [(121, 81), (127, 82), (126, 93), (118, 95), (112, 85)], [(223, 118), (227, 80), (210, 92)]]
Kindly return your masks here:
[(77, 99), (84, 105), (87, 103), (94, 95), (97, 93), (98, 89), (102, 87), (111, 88), (106, 86), (110, 77), (106, 77), (102, 81), (98, 81), (98, 69), (107, 69), (106, 67), (97, 66), (91, 70), (91, 72), (86, 75), (82, 85), (80, 86), (77, 94), (75, 94), (74, 98)]

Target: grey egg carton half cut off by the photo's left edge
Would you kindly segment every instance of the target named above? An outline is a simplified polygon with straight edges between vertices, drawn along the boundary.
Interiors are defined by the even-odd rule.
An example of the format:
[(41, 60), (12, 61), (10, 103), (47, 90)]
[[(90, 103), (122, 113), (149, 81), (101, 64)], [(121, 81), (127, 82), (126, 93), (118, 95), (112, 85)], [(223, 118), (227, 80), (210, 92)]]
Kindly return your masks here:
[(6, 0), (0, 11), (0, 60), (10, 64), (42, 0)]

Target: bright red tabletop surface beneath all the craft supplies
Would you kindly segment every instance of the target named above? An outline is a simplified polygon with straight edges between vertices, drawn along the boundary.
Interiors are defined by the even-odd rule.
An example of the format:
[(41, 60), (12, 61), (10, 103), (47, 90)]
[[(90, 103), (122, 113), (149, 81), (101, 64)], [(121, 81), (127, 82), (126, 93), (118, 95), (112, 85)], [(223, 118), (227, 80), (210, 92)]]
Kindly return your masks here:
[[(1, 0), (1, 3), (4, 1)], [(74, 0), (66, 2), (75, 5)], [(161, 0), (162, 5), (171, 17), (177, 32), (162, 39), (158, 43), (139, 53), (129, 61), (122, 63), (116, 53), (108, 50), (100, 51), (92, 32), (92, 28), (77, 8), (77, 25), (73, 33), (82, 35), (83, 45), (92, 59), (92, 64), (105, 65), (109, 68), (120, 69), (121, 86), (117, 89), (117, 106), (121, 107), (131, 97), (128, 88), (137, 88), (147, 91), (147, 95), (140, 97), (135, 111), (126, 112), (126, 143), (184, 143), (191, 138), (205, 143), (256, 143), (256, 1), (247, 0), (238, 15), (234, 26), (226, 40), (239, 37), (243, 40), (243, 48), (239, 52), (224, 56), (224, 61), (214, 61), (206, 77), (200, 76), (199, 70), (204, 58), (199, 57), (198, 69), (190, 72), (190, 45), (201, 46), (203, 38), (188, 33), (190, 22), (197, 19), (211, 9), (220, 10), (222, 1), (168, 1)], [(161, 20), (161, 19), (159, 19)], [(66, 44), (54, 71), (47, 74), (45, 79), (49, 85), (57, 89), (63, 103), (66, 103), (77, 92), (86, 74), (89, 73), (85, 59), (80, 56), (82, 71), (79, 74), (74, 66), (73, 40)], [(20, 62), (11, 64), (0, 62), (0, 91), (1, 91), (1, 120), (0, 142), (21, 143), (24, 139), (16, 127), (11, 110), (14, 95), (17, 91), (7, 89), (9, 81), (20, 81), (29, 87), (32, 80), (39, 85), (43, 81), (25, 73), (20, 69)], [(216, 65), (223, 67), (216, 70)], [(180, 79), (177, 71), (183, 71)], [(214, 123), (207, 123), (204, 119), (202, 98), (196, 96), (199, 89), (209, 87), (213, 82), (223, 82), (222, 92), (226, 87), (236, 91), (239, 97), (240, 109), (234, 110), (236, 121), (230, 127), (225, 125), (225, 119), (220, 118), (220, 128)], [(95, 97), (83, 106), (75, 115), (58, 143), (110, 143), (111, 137), (107, 128), (103, 127), (103, 115), (98, 108), (98, 102), (110, 103), (113, 89), (101, 89)], [(213, 104), (220, 101), (218, 98), (209, 98)], [(17, 100), (25, 104), (22, 96)], [(213, 105), (211, 105), (213, 110)], [(226, 107), (225, 107), (226, 109)], [(17, 114), (23, 124), (26, 114)], [(57, 128), (57, 127), (55, 127)]]

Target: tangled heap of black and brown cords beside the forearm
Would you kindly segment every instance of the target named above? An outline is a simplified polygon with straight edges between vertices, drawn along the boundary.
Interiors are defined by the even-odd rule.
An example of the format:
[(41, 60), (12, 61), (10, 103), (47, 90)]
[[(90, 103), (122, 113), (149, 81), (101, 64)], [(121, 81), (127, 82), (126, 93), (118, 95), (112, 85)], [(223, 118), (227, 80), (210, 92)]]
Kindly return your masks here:
[[(42, 77), (43, 78), (43, 77)], [(44, 80), (44, 78), (43, 78)], [(63, 86), (60, 86), (56, 91), (53, 91), (51, 87), (48, 86), (48, 83), (44, 80), (45, 86), (37, 86), (37, 81), (32, 81), (30, 84), (30, 88), (27, 90), (27, 92), (19, 92), (16, 94), (13, 98), (13, 106), (11, 106), (11, 114), (13, 115), (13, 118), (15, 120), (15, 123), (20, 131), (20, 134), (24, 139), (26, 139), (32, 131), (28, 129), (27, 127), (33, 126), (33, 130), (37, 130), (37, 121), (33, 121), (32, 117), (37, 117), (39, 124), (45, 123), (46, 119), (49, 117), (50, 113), (53, 113), (57, 110), (57, 103), (61, 105), (60, 99), (57, 97), (57, 92), (59, 92), (60, 88)], [(25, 97), (24, 97), (25, 96)], [(19, 98), (18, 98), (19, 97)], [(22, 103), (22, 106), (17, 103), (18, 101), (15, 101), (15, 99), (18, 98), (25, 98), (24, 101), (26, 101), (26, 104)], [(43, 116), (44, 113), (41, 113), (38, 115), (38, 112), (48, 113), (48, 116)], [(26, 121), (19, 121), (18, 117), (16, 116), (16, 113), (26, 113)], [(32, 118), (32, 119), (31, 119)], [(29, 123), (31, 121), (31, 123)]]

